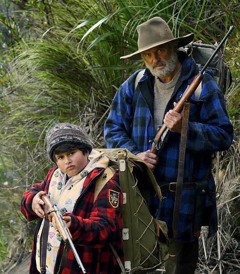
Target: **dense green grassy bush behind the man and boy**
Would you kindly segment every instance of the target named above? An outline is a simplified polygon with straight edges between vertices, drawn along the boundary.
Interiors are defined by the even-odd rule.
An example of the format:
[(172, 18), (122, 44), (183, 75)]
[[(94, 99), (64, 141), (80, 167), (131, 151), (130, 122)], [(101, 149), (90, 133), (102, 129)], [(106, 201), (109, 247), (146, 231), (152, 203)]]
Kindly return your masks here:
[[(32, 235), (32, 225), (21, 217), (19, 203), (22, 192), (41, 181), (51, 164), (45, 155), (46, 130), (56, 122), (77, 123), (96, 147), (104, 146), (103, 122), (111, 99), (118, 86), (143, 66), (119, 57), (137, 49), (136, 26), (151, 17), (163, 17), (176, 37), (194, 32), (194, 41), (206, 44), (221, 41), (229, 26), (235, 26), (224, 46), (234, 78), (226, 98), (235, 137), (215, 169), (223, 170), (221, 182), (227, 190), (239, 186), (237, 0), (2, 0), (0, 7), (0, 262), (4, 265), (30, 247), (27, 235)], [(239, 195), (237, 189), (229, 199)], [(231, 220), (237, 235), (239, 214)], [(218, 261), (223, 255), (216, 255)], [(229, 267), (217, 265), (219, 271), (221, 265)]]

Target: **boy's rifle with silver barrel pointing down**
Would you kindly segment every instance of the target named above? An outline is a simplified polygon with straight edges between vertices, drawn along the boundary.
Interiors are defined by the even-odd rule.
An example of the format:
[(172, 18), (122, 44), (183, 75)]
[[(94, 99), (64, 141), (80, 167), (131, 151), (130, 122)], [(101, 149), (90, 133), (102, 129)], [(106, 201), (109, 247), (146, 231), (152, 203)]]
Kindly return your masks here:
[(48, 209), (47, 211), (47, 215), (50, 216), (50, 218), (55, 218), (58, 229), (59, 229), (59, 233), (61, 234), (63, 241), (65, 243), (69, 243), (69, 246), (75, 256), (75, 259), (77, 261), (77, 264), (79, 265), (79, 267), (82, 269), (83, 273), (87, 273), (86, 269), (84, 268), (84, 265), (81, 261), (81, 259), (79, 258), (77, 251), (74, 247), (74, 244), (72, 242), (72, 236), (71, 233), (68, 229), (68, 227), (66, 226), (66, 223), (64, 222), (63, 218), (62, 218), (62, 214), (60, 213), (58, 207), (56, 204), (51, 203), (49, 197), (47, 195), (43, 195), (42, 196), (42, 200), (44, 201), (45, 205), (44, 205), (44, 209)]

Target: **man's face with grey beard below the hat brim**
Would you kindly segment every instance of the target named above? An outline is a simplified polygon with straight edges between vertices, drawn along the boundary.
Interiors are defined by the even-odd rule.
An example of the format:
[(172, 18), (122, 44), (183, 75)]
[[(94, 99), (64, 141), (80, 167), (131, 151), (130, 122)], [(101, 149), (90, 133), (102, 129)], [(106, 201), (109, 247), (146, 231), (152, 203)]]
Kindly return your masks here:
[(153, 47), (141, 55), (151, 74), (159, 78), (169, 76), (178, 62), (177, 51), (169, 43)]

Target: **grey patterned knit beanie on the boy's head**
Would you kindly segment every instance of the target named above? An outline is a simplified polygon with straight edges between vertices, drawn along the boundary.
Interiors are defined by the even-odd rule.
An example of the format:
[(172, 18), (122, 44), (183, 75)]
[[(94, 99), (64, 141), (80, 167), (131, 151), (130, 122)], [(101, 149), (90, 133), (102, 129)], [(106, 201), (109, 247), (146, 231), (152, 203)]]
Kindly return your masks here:
[(78, 126), (69, 123), (59, 123), (50, 128), (46, 134), (47, 154), (54, 161), (54, 149), (66, 143), (82, 145), (84, 148), (92, 151), (93, 147), (88, 135)]

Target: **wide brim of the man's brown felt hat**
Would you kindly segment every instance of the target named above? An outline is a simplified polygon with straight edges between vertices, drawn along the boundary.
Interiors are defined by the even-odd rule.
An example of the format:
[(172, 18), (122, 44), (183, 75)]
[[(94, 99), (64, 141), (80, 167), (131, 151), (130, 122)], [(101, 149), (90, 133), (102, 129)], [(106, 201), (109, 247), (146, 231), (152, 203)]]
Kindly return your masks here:
[(185, 35), (183, 37), (175, 38), (175, 39), (168, 40), (168, 41), (157, 42), (157, 43), (151, 44), (145, 48), (142, 48), (138, 51), (135, 51), (132, 54), (121, 56), (120, 59), (130, 59), (130, 60), (135, 60), (135, 61), (140, 60), (140, 59), (142, 59), (141, 53), (145, 50), (148, 50), (148, 49), (151, 49), (156, 46), (163, 45), (163, 44), (166, 44), (169, 42), (175, 42), (175, 41), (178, 42), (178, 48), (180, 48), (180, 47), (183, 47), (183, 46), (186, 46), (187, 44), (189, 44), (193, 40), (193, 38), (194, 38), (194, 33), (190, 33), (189, 35)]

